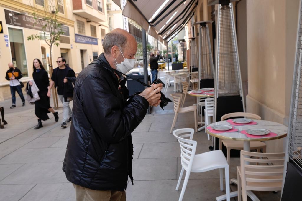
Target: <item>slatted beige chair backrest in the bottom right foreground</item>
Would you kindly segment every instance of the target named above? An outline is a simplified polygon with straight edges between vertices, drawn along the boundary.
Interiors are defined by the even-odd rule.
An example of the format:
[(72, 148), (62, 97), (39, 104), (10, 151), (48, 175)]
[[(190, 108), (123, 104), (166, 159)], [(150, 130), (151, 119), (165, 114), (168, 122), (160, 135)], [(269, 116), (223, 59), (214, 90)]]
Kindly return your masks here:
[[(258, 153), (241, 150), (240, 172), (242, 189), (262, 191), (281, 190), (284, 157), (285, 153)], [(246, 162), (250, 164), (246, 164)], [(273, 165), (267, 165), (268, 163)], [(259, 183), (259, 185), (256, 183)]]

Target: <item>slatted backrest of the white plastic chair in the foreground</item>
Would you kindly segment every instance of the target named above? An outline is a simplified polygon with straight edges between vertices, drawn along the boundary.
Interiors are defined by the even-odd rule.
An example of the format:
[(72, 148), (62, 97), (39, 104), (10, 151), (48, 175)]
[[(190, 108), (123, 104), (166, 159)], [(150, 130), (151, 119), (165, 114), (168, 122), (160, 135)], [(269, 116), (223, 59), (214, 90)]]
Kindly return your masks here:
[(197, 147), (197, 142), (192, 140), (194, 135), (194, 129), (192, 128), (177, 129), (173, 131), (173, 135), (177, 138), (178, 143), (180, 145), (180, 158), (181, 158), (182, 167), (186, 171), (191, 170), (196, 147)]

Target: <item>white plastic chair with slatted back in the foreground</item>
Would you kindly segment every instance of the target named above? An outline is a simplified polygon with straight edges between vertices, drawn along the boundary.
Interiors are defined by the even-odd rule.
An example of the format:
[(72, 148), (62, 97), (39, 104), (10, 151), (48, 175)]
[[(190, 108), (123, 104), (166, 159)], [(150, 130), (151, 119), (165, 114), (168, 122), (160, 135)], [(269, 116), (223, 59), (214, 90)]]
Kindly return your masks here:
[(195, 154), (197, 142), (192, 140), (194, 135), (194, 129), (192, 128), (174, 130), (173, 135), (177, 138), (181, 148), (180, 157), (182, 164), (182, 170), (180, 172), (175, 190), (178, 190), (180, 181), (182, 180), (182, 174), (184, 173), (184, 170), (186, 171), (185, 180), (182, 185), (182, 191), (180, 193), (178, 201), (182, 201), (191, 172), (206, 172), (214, 169), (219, 169), (220, 190), (223, 190), (222, 168), (224, 168), (226, 175), (226, 200), (230, 201), (229, 164), (227, 163), (223, 152), (221, 150), (216, 150), (201, 154)]

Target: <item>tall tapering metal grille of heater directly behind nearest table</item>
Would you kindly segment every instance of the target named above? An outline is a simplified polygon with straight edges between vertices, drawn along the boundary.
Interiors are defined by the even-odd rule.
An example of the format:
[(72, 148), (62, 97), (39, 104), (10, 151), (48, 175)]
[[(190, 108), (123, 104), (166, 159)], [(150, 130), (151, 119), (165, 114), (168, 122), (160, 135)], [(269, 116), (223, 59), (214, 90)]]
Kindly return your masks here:
[(220, 94), (240, 94), (240, 70), (233, 8), (219, 5), (217, 84)]

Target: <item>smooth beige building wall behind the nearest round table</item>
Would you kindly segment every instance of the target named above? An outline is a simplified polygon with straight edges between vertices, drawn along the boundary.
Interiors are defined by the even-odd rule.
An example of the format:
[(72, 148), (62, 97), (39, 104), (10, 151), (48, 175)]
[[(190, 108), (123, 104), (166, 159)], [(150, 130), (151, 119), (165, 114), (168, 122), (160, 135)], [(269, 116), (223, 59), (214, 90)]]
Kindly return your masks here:
[[(288, 124), (299, 0), (247, 1), (247, 112)], [(267, 141), (282, 152), (284, 139)]]

